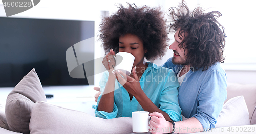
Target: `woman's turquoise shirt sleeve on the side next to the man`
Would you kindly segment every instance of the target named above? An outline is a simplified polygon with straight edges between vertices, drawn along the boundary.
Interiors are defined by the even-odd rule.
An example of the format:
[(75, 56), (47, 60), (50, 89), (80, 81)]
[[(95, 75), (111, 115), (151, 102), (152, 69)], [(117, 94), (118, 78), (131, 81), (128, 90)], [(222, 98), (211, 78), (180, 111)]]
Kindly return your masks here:
[(178, 101), (179, 83), (173, 70), (165, 77), (165, 85), (160, 97), (160, 110), (167, 113), (173, 121), (181, 121), (181, 108)]

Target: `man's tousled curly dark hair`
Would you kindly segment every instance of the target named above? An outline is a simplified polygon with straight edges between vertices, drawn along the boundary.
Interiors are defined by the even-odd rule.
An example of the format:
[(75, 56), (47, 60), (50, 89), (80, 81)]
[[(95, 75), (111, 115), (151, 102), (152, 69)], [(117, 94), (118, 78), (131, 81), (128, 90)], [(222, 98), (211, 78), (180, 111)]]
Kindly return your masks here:
[(186, 55), (188, 65), (194, 70), (202, 68), (204, 71), (217, 62), (224, 62), (226, 35), (224, 27), (217, 21), (217, 18), (222, 15), (220, 12), (204, 13), (205, 10), (199, 6), (190, 13), (184, 0), (178, 8), (172, 7), (169, 11), (170, 17), (173, 19), (169, 31), (180, 29), (178, 33), (180, 39), (182, 33), (188, 33), (179, 44), (180, 48), (188, 50)]

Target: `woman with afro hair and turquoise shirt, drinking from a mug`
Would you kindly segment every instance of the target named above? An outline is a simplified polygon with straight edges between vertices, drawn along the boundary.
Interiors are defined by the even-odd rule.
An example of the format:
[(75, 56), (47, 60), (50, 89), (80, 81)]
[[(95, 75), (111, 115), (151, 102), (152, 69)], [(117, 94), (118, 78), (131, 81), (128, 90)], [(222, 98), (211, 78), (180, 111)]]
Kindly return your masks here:
[[(156, 111), (167, 121), (181, 120), (179, 83), (175, 73), (145, 62), (145, 59), (154, 61), (164, 56), (168, 47), (165, 23), (160, 8), (137, 7), (135, 4), (128, 4), (127, 8), (120, 4), (116, 13), (104, 18), (98, 36), (106, 52), (102, 63), (108, 71), (101, 78), (101, 94), (97, 105), (93, 106), (97, 117), (132, 117), (133, 111)], [(129, 76), (114, 72), (113, 55), (118, 52), (128, 52), (135, 57)]]

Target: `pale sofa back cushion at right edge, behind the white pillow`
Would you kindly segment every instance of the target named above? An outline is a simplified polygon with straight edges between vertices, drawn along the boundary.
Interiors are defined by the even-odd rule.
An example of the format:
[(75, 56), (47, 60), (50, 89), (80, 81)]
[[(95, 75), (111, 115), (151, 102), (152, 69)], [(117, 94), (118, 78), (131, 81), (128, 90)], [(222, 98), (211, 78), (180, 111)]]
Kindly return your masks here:
[(253, 110), (256, 106), (256, 84), (238, 84), (238, 83), (227, 83), (227, 102), (229, 99), (236, 96), (244, 96), (250, 119)]

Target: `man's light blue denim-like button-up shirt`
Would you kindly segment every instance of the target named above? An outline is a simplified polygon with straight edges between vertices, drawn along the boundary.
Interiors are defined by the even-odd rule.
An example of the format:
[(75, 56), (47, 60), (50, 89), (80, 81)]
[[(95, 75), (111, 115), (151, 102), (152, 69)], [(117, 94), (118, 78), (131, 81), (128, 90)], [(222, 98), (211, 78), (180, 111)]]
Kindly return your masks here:
[[(177, 73), (183, 67), (174, 65), (172, 58), (163, 67), (173, 69)], [(227, 98), (226, 73), (220, 63), (212, 65), (206, 71), (190, 70), (179, 88), (179, 105), (186, 118), (195, 117), (204, 129), (215, 128), (217, 118)]]

